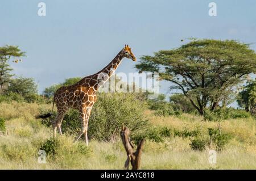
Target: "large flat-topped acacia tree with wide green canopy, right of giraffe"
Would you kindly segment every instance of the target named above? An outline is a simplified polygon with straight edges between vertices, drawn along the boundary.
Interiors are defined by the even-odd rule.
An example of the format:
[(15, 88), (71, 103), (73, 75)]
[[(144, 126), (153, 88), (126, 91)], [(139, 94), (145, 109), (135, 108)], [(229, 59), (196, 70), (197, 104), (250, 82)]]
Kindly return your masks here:
[(234, 40), (192, 40), (141, 60), (138, 70), (157, 71), (160, 79), (172, 82), (170, 89), (180, 90), (201, 115), (207, 107), (216, 109), (245, 75), (256, 71), (254, 50)]

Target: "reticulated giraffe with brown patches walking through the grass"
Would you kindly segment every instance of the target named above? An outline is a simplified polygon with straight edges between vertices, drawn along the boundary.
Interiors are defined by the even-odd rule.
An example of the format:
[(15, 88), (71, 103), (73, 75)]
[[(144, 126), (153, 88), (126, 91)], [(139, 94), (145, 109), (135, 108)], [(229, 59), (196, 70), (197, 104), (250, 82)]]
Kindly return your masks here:
[[(96, 74), (89, 75), (82, 78), (79, 82), (63, 86), (56, 90), (53, 96), (52, 112), (54, 104), (57, 107), (57, 116), (55, 120), (52, 120), (53, 137), (56, 137), (56, 131), (60, 134), (61, 132), (61, 122), (64, 118), (65, 113), (69, 108), (75, 108), (80, 113), (81, 121), (81, 132), (75, 138), (74, 142), (79, 140), (79, 138), (84, 134), (85, 144), (88, 146), (88, 121), (90, 117), (90, 112), (92, 111), (93, 104), (97, 100), (96, 92), (114, 73), (118, 65), (121, 63), (123, 58), (129, 58), (136, 61), (136, 57), (131, 52), (129, 45), (125, 45), (124, 48), (115, 56), (115, 58), (107, 65), (104, 69), (98, 71)], [(37, 115), (36, 119), (46, 119), (52, 115), (51, 113)]]

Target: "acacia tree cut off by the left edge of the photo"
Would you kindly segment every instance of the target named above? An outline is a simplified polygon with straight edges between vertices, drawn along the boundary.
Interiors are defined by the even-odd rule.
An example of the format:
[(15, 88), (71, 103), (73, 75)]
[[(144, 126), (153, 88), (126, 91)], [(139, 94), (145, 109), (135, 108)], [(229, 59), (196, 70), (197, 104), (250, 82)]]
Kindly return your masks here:
[(22, 56), (25, 56), (25, 52), (21, 52), (18, 46), (0, 47), (0, 92), (3, 92), (3, 86), (10, 83), (11, 77), (13, 77), (13, 74), (10, 74), (13, 69), (9, 65), (9, 60)]

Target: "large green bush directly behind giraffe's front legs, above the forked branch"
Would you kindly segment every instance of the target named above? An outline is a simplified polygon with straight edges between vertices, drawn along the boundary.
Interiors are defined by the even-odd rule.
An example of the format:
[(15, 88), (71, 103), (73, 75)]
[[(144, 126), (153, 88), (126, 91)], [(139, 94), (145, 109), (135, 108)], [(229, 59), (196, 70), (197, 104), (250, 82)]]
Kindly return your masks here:
[(132, 132), (148, 123), (144, 116), (146, 103), (131, 93), (101, 93), (92, 109), (88, 134), (97, 140), (119, 138), (122, 125)]

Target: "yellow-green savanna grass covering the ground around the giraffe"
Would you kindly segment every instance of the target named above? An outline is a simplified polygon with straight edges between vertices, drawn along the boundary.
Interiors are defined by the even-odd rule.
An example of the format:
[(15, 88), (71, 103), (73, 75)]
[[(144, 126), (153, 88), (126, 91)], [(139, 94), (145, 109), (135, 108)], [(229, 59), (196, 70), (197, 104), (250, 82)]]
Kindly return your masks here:
[[(51, 104), (1, 102), (0, 115), (5, 119), (5, 131), (0, 135), (0, 169), (123, 169), (126, 152), (119, 138), (110, 141), (91, 139), (89, 148), (84, 140), (73, 143), (73, 135), (58, 135), (49, 149), (46, 164), (38, 163), (38, 151), (51, 140), (52, 129), (34, 116)], [(179, 116), (156, 116), (146, 110), (151, 129), (164, 128), (146, 138), (141, 169), (255, 169), (256, 121), (253, 117), (205, 121), (203, 117), (183, 113)], [(74, 120), (76, 121), (76, 120)], [(78, 120), (77, 120), (78, 121)], [(90, 124), (90, 122), (89, 122)], [(209, 164), (209, 150), (193, 149), (194, 133), (208, 137), (208, 128), (221, 127), (229, 141), (217, 151), (217, 163)], [(89, 129), (90, 132), (90, 129)], [(198, 135), (199, 134), (199, 135)], [(155, 137), (154, 137), (155, 136)]]

